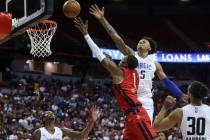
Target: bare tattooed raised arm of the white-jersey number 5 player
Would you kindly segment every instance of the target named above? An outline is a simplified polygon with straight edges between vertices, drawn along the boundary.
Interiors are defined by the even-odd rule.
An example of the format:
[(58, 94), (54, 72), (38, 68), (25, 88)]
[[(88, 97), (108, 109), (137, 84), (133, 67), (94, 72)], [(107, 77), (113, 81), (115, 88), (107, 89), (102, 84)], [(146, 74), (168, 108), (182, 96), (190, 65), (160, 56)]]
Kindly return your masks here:
[(92, 14), (96, 19), (100, 21), (104, 29), (107, 31), (109, 36), (114, 41), (117, 48), (124, 54), (124, 55), (130, 55), (134, 54), (133, 49), (128, 47), (123, 39), (119, 36), (119, 34), (116, 32), (116, 30), (110, 25), (110, 23), (106, 20), (104, 17), (104, 7), (102, 9), (99, 9), (98, 5), (91, 5), (90, 8), (90, 14)]

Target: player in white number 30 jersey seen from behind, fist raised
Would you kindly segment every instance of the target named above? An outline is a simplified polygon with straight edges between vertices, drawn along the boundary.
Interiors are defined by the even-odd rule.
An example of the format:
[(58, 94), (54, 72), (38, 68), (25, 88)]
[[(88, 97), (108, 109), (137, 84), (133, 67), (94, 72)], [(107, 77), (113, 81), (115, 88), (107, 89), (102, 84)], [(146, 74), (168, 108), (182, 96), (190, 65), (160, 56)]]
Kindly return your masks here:
[(203, 104), (209, 89), (201, 82), (192, 82), (188, 87), (190, 104), (177, 108), (165, 117), (176, 104), (175, 98), (168, 96), (156, 117), (153, 128), (156, 131), (180, 127), (183, 140), (210, 140), (210, 106)]

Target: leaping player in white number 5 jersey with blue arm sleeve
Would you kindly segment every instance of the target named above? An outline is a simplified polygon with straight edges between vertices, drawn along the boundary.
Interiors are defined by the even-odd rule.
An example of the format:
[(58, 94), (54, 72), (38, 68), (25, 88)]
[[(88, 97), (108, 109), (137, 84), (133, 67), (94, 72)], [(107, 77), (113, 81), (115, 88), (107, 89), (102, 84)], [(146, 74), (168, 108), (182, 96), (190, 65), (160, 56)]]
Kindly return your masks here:
[(92, 5), (90, 7), (90, 14), (92, 14), (96, 19), (100, 21), (102, 26), (105, 28), (109, 36), (114, 41), (117, 48), (124, 54), (133, 54), (136, 56), (139, 62), (138, 72), (140, 76), (138, 97), (143, 104), (143, 107), (147, 110), (151, 121), (153, 120), (153, 100), (152, 100), (152, 79), (156, 73), (159, 79), (165, 84), (165, 86), (176, 95), (176, 97), (181, 97), (183, 100), (187, 97), (182, 93), (182, 91), (167, 78), (164, 73), (160, 63), (156, 62), (153, 53), (156, 51), (157, 43), (149, 38), (143, 37), (137, 45), (137, 53), (133, 49), (125, 44), (123, 39), (118, 35), (115, 29), (109, 24), (109, 22), (104, 17), (104, 7), (99, 9), (98, 6)]

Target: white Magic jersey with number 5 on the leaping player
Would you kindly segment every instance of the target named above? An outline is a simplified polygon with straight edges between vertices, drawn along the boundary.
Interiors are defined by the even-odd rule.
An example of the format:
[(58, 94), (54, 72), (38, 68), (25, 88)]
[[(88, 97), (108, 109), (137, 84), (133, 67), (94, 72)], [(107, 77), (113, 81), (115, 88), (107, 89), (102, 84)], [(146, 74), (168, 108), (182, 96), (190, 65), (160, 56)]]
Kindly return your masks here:
[(139, 73), (139, 88), (138, 97), (152, 97), (152, 79), (155, 77), (155, 58), (154, 55), (148, 55), (146, 58), (141, 58), (138, 53), (135, 53), (138, 59), (138, 67), (136, 68)]

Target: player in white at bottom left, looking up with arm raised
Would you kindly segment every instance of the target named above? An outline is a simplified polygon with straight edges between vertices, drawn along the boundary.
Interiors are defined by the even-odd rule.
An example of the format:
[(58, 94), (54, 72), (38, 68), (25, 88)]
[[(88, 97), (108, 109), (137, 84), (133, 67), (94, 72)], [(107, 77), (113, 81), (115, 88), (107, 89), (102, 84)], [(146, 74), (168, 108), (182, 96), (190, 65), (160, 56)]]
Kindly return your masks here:
[(86, 127), (82, 132), (73, 131), (68, 128), (55, 127), (55, 115), (52, 111), (46, 111), (43, 116), (44, 127), (34, 131), (32, 140), (63, 140), (64, 136), (77, 139), (86, 139), (92, 130), (98, 117), (98, 109), (93, 106)]

